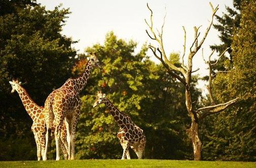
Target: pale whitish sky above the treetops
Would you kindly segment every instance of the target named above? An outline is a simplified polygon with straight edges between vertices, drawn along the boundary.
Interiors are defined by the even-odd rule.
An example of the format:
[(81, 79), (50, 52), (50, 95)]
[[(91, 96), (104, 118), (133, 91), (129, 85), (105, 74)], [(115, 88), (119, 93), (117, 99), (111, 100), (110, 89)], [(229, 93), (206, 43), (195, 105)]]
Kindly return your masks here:
[[(93, 44), (103, 44), (106, 33), (112, 30), (118, 38), (123, 38), (127, 41), (130, 39), (137, 41), (139, 48), (145, 41), (148, 41), (148, 43), (152, 42), (145, 33), (147, 25), (144, 19), (149, 20), (150, 18), (147, 3), (149, 3), (153, 10), (154, 25), (158, 29), (161, 28), (166, 6), (167, 15), (163, 40), (165, 51), (168, 55), (171, 52), (182, 53), (182, 45), (184, 44), (182, 26), (185, 26), (187, 31), (187, 49), (189, 49), (194, 41), (193, 27), (202, 25), (200, 28), (200, 40), (211, 17), (209, 1), (206, 0), (38, 0), (37, 2), (46, 6), (48, 10), (54, 9), (59, 4), (62, 4), (63, 8), (70, 9), (72, 13), (63, 27), (62, 34), (72, 37), (73, 40), (79, 40), (79, 43), (72, 46), (79, 50), (78, 53), (83, 53), (86, 47)], [(211, 3), (213, 7), (219, 5), (219, 10), (216, 14), (221, 16), (222, 12), (225, 12), (225, 5), (233, 7), (232, 0), (212, 0)], [(204, 55), (207, 56), (211, 52), (209, 45), (219, 43), (218, 32), (212, 27), (202, 46), (204, 48)], [(186, 54), (188, 54), (188, 50)], [(148, 55), (152, 56), (151, 59), (156, 61), (151, 52), (148, 52)], [(194, 57), (193, 66), (193, 69), (200, 68), (198, 71), (200, 76), (206, 73), (206, 66), (202, 60), (201, 51)]]

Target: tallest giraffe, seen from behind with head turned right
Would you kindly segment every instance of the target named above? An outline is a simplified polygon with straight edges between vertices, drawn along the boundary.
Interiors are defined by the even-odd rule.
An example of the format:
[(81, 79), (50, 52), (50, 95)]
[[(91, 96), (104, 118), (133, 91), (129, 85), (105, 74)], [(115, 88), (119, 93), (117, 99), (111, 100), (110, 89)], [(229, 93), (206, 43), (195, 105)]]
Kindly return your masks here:
[(56, 160), (59, 160), (59, 132), (64, 120), (67, 129), (68, 159), (75, 159), (76, 125), (80, 116), (81, 107), (79, 93), (86, 86), (92, 68), (100, 67), (99, 60), (95, 53), (90, 53), (90, 57), (88, 57), (87, 60), (85, 70), (80, 76), (67, 79), (65, 83), (60, 88), (54, 90), (45, 101), (47, 141), (44, 160), (47, 160), (48, 136), (49, 132), (51, 132), (52, 124), (55, 127)]

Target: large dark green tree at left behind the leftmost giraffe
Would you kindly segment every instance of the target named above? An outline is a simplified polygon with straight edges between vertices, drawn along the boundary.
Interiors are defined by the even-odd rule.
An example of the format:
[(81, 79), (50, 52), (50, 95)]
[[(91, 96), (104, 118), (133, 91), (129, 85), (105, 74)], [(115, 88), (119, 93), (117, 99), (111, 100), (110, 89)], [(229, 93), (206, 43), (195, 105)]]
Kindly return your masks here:
[[(35, 151), (31, 120), (19, 97), (10, 93), (8, 81), (19, 78), (31, 98), (44, 105), (48, 94), (70, 77), (76, 51), (70, 47), (74, 42), (60, 33), (68, 9), (59, 6), (47, 11), (45, 7), (32, 7), (29, 1), (24, 2), (15, 6), (13, 12), (0, 16), (0, 137), (2, 142), (13, 146), (20, 145), (15, 139), (29, 137), (31, 148), (27, 150)], [(0, 159), (3, 158), (0, 155)], [(12, 157), (18, 158), (23, 156)]]

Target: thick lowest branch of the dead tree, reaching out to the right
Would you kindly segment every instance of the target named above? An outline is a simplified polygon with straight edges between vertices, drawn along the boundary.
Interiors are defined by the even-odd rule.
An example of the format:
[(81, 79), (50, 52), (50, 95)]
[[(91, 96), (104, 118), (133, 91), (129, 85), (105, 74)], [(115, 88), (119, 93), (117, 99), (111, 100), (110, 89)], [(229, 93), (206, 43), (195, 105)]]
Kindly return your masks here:
[(229, 102), (222, 103), (222, 104), (217, 104), (213, 106), (207, 106), (207, 107), (202, 107), (196, 110), (196, 113), (200, 114), (200, 119), (203, 119), (207, 115), (215, 114), (222, 112), (223, 110), (227, 109), (229, 106), (233, 105), (238, 101), (239, 98), (235, 98)]

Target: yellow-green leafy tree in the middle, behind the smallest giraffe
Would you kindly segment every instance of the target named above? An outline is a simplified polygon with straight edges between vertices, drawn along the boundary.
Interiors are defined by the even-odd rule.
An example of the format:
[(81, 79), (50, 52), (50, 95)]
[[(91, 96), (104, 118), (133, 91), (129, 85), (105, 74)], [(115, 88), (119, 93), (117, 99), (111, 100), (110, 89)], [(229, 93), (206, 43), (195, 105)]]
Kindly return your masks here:
[[(81, 118), (78, 123), (77, 157), (121, 158), (122, 147), (118, 141), (118, 125), (108, 110), (92, 105), (95, 94), (102, 90), (107, 98), (144, 130), (147, 137), (145, 157), (164, 159), (190, 158), (183, 130), (188, 123), (180, 118), (188, 116), (180, 82), (166, 78), (163, 67), (156, 65), (145, 55), (143, 46), (134, 54), (136, 43), (118, 39), (113, 32), (107, 33), (103, 45), (96, 44), (87, 52), (96, 52), (103, 71), (93, 70), (82, 95)], [(83, 70), (84, 56), (74, 72)], [(182, 116), (183, 115), (183, 116)], [(132, 158), (136, 158), (131, 152)]]

